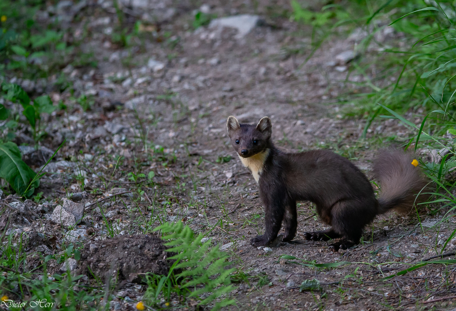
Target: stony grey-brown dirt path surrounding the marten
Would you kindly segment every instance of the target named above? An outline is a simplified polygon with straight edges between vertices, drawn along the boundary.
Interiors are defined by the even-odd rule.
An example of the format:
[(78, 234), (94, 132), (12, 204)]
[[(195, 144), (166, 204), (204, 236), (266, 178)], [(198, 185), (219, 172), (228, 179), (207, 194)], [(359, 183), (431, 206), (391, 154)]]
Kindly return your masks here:
[[(70, 93), (52, 94), (54, 101), (63, 100), (69, 109), (49, 116), (50, 135), (42, 145), (56, 150), (67, 141), (57, 161), (44, 169), (49, 174), (42, 178), (38, 191), (44, 192), (45, 201), (13, 204), (8, 217), (0, 218), (0, 228), (8, 223), (7, 234), (18, 238), (24, 232), (30, 237), (30, 268), (39, 264), (35, 252), (59, 254), (62, 245), (96, 244), (111, 234), (156, 234), (152, 230), (161, 221), (182, 219), (196, 232), (222, 244), (232, 254), (233, 265), (254, 276), (248, 282), (242, 280), (233, 292), (241, 310), (445, 310), (454, 306), (451, 299), (433, 301), (454, 295), (449, 292), (454, 272), (442, 265), (382, 280), (405, 269), (403, 262), (412, 264), (441, 249), (456, 228), (455, 218), (433, 227), (442, 214), (430, 216), (421, 210), (422, 227), (416, 215), (392, 212), (379, 216), (366, 228), (361, 244), (332, 253), (325, 242), (303, 239), (304, 232), (325, 225), (318, 221), (315, 208), (302, 202), (294, 241), (267, 249), (248, 243), (264, 230), (262, 203), (253, 177), (231, 149), (225, 125), (229, 115), (242, 122), (258, 122), (268, 115), (278, 146), (286, 150), (331, 148), (351, 158), (368, 175), (375, 150), (394, 141), (391, 137), (399, 144), (408, 130), (391, 119), (374, 122), (367, 140), (361, 141), (365, 119), (340, 114), (346, 107), (339, 102), (341, 96), (363, 91), (349, 81), (371, 78), (350, 75), (346, 80), (351, 65), (336, 57), (352, 51), (357, 36), (342, 32), (305, 62), (311, 51), (310, 27), (275, 14), (290, 10), (288, 1), (206, 4), (218, 16), (262, 16), (263, 26), (240, 38), (233, 28), (203, 26), (193, 31), (189, 26), (192, 10), (201, 4), (188, 3), (157, 24), (160, 29), (151, 24), (155, 31), (144, 42), (121, 48), (105, 35), (109, 21), (115, 20), (109, 5), (90, 6), (81, 20), (70, 23), (75, 30), (88, 23), (91, 36), (85, 48), (95, 53), (98, 67), (67, 67), (63, 72), (73, 81), (77, 94), (93, 94), (95, 103), (83, 112)], [(168, 39), (164, 37), (167, 32), (171, 33)], [(401, 36), (388, 32), (380, 39), (397, 42)], [(170, 40), (176, 41), (176, 47)], [(290, 53), (293, 47), (303, 53)], [(370, 52), (377, 53), (375, 46)], [(420, 122), (419, 115), (408, 117)], [(25, 135), (20, 137), (26, 140)], [(223, 157), (228, 162), (223, 163)], [(44, 163), (34, 155), (27, 159), (34, 168)], [(150, 171), (155, 176), (148, 181)], [(140, 173), (145, 177), (135, 180)], [(132, 192), (88, 206), (129, 190)], [(84, 218), (73, 230), (68, 229), (71, 215), (67, 216), (70, 225), (51, 217), (65, 197), (84, 204)], [(15, 199), (9, 202), (11, 205)], [(447, 250), (454, 246), (450, 242)], [(283, 254), (317, 264), (355, 264), (318, 268), (299, 260), (280, 260)], [(99, 258), (97, 263), (107, 261), (109, 258)], [(378, 263), (385, 264), (373, 265)], [(51, 269), (60, 268), (55, 259), (48, 264)], [(301, 282), (314, 278), (320, 281), (321, 290), (299, 292)], [(429, 296), (431, 289), (436, 291)], [(144, 286), (130, 284), (117, 295), (119, 304), (115, 306), (122, 310), (132, 307), (144, 290)], [(178, 301), (173, 303), (179, 306)]]

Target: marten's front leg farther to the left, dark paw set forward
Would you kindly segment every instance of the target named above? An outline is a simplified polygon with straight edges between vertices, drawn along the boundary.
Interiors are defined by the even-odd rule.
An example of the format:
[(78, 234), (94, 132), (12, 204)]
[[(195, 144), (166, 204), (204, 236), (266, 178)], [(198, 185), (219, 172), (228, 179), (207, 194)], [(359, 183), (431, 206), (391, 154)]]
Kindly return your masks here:
[(262, 195), (262, 197), (264, 202), (264, 224), (266, 230), (263, 235), (257, 235), (250, 240), (250, 243), (257, 247), (266, 246), (277, 238), (277, 233), (280, 231), (285, 213), (285, 200), (283, 194), (269, 192)]

